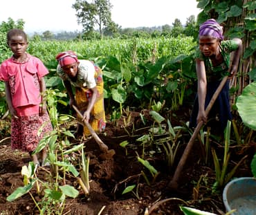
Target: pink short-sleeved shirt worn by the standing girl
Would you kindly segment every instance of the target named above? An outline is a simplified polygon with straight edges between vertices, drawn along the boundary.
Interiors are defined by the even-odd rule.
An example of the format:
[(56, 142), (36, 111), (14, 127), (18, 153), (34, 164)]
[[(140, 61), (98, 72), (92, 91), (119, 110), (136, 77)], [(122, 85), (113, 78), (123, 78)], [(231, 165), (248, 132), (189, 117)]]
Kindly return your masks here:
[(12, 57), (6, 59), (0, 67), (0, 80), (10, 85), (12, 105), (26, 106), (40, 104), (39, 80), (49, 72), (43, 62), (37, 57), (28, 55), (28, 61), (15, 62)]

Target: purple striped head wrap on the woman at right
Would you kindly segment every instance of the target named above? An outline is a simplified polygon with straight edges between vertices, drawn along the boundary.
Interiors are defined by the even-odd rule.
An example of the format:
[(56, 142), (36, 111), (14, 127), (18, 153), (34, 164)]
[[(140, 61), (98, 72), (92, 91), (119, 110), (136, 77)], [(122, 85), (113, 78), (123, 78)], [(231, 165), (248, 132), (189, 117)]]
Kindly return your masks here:
[(222, 27), (215, 19), (208, 19), (199, 28), (199, 36), (211, 36), (223, 40)]

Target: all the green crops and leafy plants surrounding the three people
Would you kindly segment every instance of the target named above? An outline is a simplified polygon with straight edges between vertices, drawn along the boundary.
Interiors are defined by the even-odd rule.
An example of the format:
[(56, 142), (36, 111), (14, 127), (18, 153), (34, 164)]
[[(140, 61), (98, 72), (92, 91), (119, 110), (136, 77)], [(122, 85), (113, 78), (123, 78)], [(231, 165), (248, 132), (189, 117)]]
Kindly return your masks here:
[[(255, 141), (253, 133), (256, 129), (254, 108), (256, 86), (254, 82), (249, 83), (256, 80), (254, 60), (256, 53), (255, 2), (210, 0), (199, 0), (198, 2), (199, 8), (202, 8), (203, 11), (199, 15), (196, 24), (193, 24), (193, 20), (188, 22), (185, 28), (187, 32), (183, 31), (179, 20), (176, 20), (172, 29), (168, 28), (170, 26), (163, 26), (161, 32), (157, 30), (152, 32), (143, 32), (142, 30), (128, 32), (127, 30), (127, 34), (124, 35), (122, 35), (122, 32), (125, 32), (125, 30), (121, 30), (116, 39), (97, 40), (93, 38), (98, 37), (98, 35), (94, 35), (95, 37), (91, 35), (89, 38), (86, 34), (73, 41), (43, 41), (40, 37), (30, 39), (28, 53), (42, 59), (50, 71), (50, 74), (46, 77), (48, 90), (45, 96), (55, 131), (40, 142), (37, 151), (45, 146), (49, 147), (48, 161), (55, 169), (57, 183), (54, 185), (53, 182), (42, 183), (35, 176), (35, 167), (29, 165), (24, 167), (24, 171), (22, 171), (25, 178), (24, 182), (26, 182), (24, 187), (10, 195), (9, 200), (19, 198), (28, 193), (37, 183), (42, 183), (42, 185), (47, 185), (44, 198), (47, 204), (41, 206), (50, 210), (53, 206), (50, 197), (54, 197), (57, 205), (64, 203), (62, 200), (64, 200), (65, 195), (75, 198), (75, 189), (59, 186), (59, 183), (65, 183), (66, 176), (75, 176), (84, 194), (89, 194), (89, 158), (84, 156), (84, 146), (79, 144), (73, 147), (68, 140), (68, 138), (73, 137), (73, 133), (61, 127), (67, 118), (71, 118), (67, 115), (65, 109), (67, 103), (65, 88), (62, 80), (55, 75), (57, 66), (55, 56), (63, 50), (74, 50), (80, 59), (93, 60), (104, 71), (105, 109), (111, 116), (111, 121), (117, 122), (124, 113), (127, 115), (127, 118), (124, 118), (122, 128), (127, 132), (127, 137), (136, 138), (136, 140), (134, 142), (124, 140), (120, 143), (120, 146), (124, 148), (126, 156), (130, 156), (128, 153), (129, 147), (131, 145), (136, 146), (138, 162), (145, 167), (145, 171), (141, 171), (140, 176), (143, 176), (147, 185), (153, 185), (156, 178), (161, 177), (158, 175), (160, 171), (153, 167), (154, 164), (152, 165), (148, 158), (154, 157), (156, 153), (161, 153), (167, 167), (170, 167), (170, 169), (174, 167), (177, 161), (176, 153), (181, 147), (184, 147), (185, 142), (182, 138), (191, 135), (191, 131), (185, 124), (172, 127), (172, 117), (175, 111), (179, 111), (182, 106), (190, 105), (194, 99), (194, 93), (196, 92), (193, 57), (194, 46), (196, 46), (194, 38), (196, 36), (194, 36), (194, 32), (196, 32), (198, 25), (208, 18), (215, 18), (217, 21), (223, 21), (226, 24), (227, 38), (239, 37), (243, 39), (244, 56), (236, 77), (239, 84), (231, 89), (234, 96), (232, 111), (235, 113), (235, 119), (232, 120), (232, 127), (231, 122), (228, 122), (225, 140), (220, 142), (221, 138), (216, 138), (221, 150), (217, 150), (217, 147), (214, 148), (215, 139), (210, 135), (209, 129), (206, 133), (201, 131), (199, 144), (203, 145), (204, 158), (203, 161), (199, 160), (198, 162), (203, 162), (207, 167), (214, 168), (215, 175), (212, 183), (214, 186), (210, 184), (211, 178), (208, 174), (201, 175), (199, 180), (194, 182), (196, 185), (193, 193), (194, 201), (190, 202), (190, 205), (196, 206), (200, 202), (203, 203), (205, 198), (202, 189), (207, 189), (207, 191), (210, 189), (212, 194), (213, 191), (220, 192), (223, 186), (228, 183), (228, 180), (234, 176), (238, 166), (242, 162), (250, 162), (248, 156), (244, 156), (241, 159), (239, 158), (239, 162), (234, 165), (231, 162), (234, 159), (230, 150), (232, 149), (232, 152), (244, 150), (249, 147), (250, 142)], [(245, 9), (247, 13), (243, 14)], [(3, 50), (0, 53), (0, 62), (11, 55), (6, 46), (6, 31), (13, 27), (22, 28), (22, 21), (15, 24), (15, 22), (9, 20), (0, 26), (0, 48)], [(44, 39), (51, 35), (51, 32), (46, 33)], [(184, 34), (192, 37), (184, 37)], [(174, 35), (175, 37), (172, 37)], [(0, 115), (4, 115), (8, 108), (3, 82), (0, 82), (0, 95)], [(140, 113), (140, 119), (145, 125), (143, 135), (134, 136), (136, 127), (135, 123), (131, 122), (129, 111), (131, 108), (150, 110), (149, 114), (152, 122), (149, 127), (146, 127), (145, 115), (143, 115), (143, 112)], [(238, 114), (236, 111), (238, 111)], [(128, 131), (127, 127), (131, 124), (133, 129)], [(116, 127), (119, 126), (119, 124), (116, 124)], [(1, 132), (3, 133), (7, 129), (9, 128), (3, 129)], [(234, 133), (235, 135), (233, 135)], [(77, 151), (81, 153), (80, 164), (77, 165), (79, 166), (78, 170), (76, 169), (77, 166), (73, 165), (73, 160), (68, 159), (68, 155)], [(254, 156), (250, 162), (253, 176), (256, 174), (255, 160)], [(60, 176), (59, 171), (62, 178), (58, 177)], [(122, 183), (125, 183), (126, 187), (122, 194), (131, 192), (136, 198), (140, 199), (139, 179), (137, 185), (129, 185), (128, 180), (123, 180)], [(135, 187), (136, 191), (134, 191)], [(36, 202), (35, 205), (39, 207)], [(40, 209), (41, 207), (39, 207)], [(181, 207), (181, 209), (185, 214), (210, 214), (188, 207)]]

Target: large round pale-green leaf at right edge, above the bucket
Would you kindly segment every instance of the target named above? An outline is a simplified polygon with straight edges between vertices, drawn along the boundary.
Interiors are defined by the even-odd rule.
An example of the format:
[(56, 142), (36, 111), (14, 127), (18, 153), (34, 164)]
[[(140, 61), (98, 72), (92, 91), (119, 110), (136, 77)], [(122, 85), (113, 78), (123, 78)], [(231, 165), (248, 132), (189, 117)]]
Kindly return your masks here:
[(256, 130), (256, 82), (247, 85), (237, 97), (237, 109), (244, 124)]

